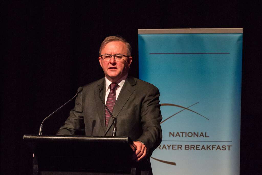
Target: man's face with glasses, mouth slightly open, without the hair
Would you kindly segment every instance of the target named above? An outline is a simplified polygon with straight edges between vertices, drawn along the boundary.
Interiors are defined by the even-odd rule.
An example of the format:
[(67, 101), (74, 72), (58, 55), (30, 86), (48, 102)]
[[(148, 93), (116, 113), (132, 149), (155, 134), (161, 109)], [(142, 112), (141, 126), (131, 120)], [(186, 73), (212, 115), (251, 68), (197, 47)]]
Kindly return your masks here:
[[(104, 54), (127, 55), (127, 47), (122, 41), (111, 41), (101, 50), (101, 55)], [(106, 78), (112, 82), (116, 82), (128, 73), (132, 57), (124, 57), (121, 61), (116, 61), (114, 57), (111, 57), (110, 61), (103, 61), (103, 59), (99, 57), (99, 62)]]

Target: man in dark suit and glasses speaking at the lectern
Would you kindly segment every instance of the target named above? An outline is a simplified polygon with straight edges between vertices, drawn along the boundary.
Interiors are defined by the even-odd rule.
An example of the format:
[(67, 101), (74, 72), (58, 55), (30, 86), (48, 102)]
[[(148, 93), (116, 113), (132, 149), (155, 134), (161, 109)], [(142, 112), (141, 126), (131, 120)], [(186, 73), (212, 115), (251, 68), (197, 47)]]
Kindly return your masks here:
[(111, 136), (113, 119), (99, 96), (105, 100), (116, 125), (116, 136), (134, 140), (136, 161), (146, 160), (152, 173), (150, 156), (162, 140), (159, 90), (152, 84), (128, 76), (132, 63), (130, 44), (122, 37), (109, 36), (99, 50), (99, 63), (105, 78), (85, 85), (75, 107), (58, 135)]

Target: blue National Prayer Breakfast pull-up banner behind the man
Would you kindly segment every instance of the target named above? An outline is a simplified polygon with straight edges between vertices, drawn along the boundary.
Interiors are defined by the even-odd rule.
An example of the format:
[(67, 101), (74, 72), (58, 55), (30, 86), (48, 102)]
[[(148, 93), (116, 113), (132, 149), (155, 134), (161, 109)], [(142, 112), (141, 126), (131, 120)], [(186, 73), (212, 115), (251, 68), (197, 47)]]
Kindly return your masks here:
[(239, 174), (242, 29), (139, 29), (139, 78), (160, 90), (154, 174)]

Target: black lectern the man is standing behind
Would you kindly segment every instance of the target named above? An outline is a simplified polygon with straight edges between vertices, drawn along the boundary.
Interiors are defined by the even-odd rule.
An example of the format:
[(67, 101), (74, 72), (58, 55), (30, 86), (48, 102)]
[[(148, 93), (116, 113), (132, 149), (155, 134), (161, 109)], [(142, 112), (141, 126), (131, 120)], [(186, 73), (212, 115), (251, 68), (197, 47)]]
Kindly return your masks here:
[(129, 137), (24, 135), (34, 149), (34, 175), (136, 174)]

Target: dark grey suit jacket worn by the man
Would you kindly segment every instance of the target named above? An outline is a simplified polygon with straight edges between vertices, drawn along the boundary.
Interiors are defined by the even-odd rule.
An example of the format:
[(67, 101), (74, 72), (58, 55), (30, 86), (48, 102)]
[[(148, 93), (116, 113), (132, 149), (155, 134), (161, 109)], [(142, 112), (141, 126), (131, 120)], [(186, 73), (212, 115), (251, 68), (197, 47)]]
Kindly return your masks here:
[[(112, 136), (113, 119), (105, 124), (105, 78), (85, 85), (75, 100), (75, 107), (58, 135)], [(159, 90), (152, 84), (128, 77), (120, 91), (112, 112), (116, 118), (116, 136), (129, 136), (144, 142), (148, 159), (162, 140)], [(150, 166), (151, 168), (151, 166)]]

